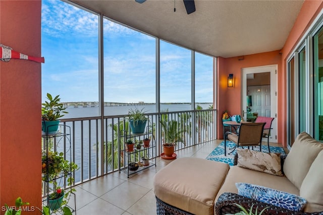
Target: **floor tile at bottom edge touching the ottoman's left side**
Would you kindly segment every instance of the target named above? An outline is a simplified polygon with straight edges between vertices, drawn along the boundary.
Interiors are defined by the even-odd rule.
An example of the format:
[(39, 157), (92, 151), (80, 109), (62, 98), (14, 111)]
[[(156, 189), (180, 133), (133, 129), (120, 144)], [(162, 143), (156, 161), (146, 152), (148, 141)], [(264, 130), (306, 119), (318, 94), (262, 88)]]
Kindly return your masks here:
[(152, 215), (156, 214), (156, 199), (153, 191), (149, 191), (139, 201), (132, 205), (128, 210), (133, 215)]

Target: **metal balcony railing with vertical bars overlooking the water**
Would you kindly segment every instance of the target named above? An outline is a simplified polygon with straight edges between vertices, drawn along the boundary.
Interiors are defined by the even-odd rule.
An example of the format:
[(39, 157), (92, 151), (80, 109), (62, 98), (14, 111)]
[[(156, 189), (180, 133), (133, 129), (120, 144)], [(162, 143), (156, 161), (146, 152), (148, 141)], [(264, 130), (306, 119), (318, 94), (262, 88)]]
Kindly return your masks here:
[[(192, 110), (146, 114), (147, 126), (152, 128), (157, 154), (163, 151), (160, 120), (176, 120), (179, 129), (184, 128), (185, 144), (179, 143), (175, 150), (181, 150), (216, 139), (216, 110)], [(62, 119), (61, 123), (71, 127), (72, 161), (79, 167), (73, 173), (75, 184), (118, 171), (120, 131), (129, 129), (127, 116), (104, 116)], [(102, 124), (103, 123), (103, 126)], [(120, 145), (123, 147), (123, 142)], [(66, 149), (60, 149), (66, 152)]]

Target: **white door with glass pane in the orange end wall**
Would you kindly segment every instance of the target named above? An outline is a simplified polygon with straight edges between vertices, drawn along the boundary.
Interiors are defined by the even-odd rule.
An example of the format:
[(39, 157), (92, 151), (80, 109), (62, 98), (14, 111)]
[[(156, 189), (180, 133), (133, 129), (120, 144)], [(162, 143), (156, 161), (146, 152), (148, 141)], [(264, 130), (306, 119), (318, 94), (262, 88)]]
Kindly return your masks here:
[[(258, 112), (258, 116), (274, 117), (272, 123), (270, 142), (277, 142), (277, 65), (257, 66), (242, 68), (242, 107), (244, 121), (247, 121), (247, 74), (268, 73), (270, 72), (270, 87), (249, 87), (251, 89), (248, 93), (254, 94), (252, 96), (252, 111)], [(250, 94), (248, 94), (250, 95)], [(267, 141), (263, 138), (262, 141)]]

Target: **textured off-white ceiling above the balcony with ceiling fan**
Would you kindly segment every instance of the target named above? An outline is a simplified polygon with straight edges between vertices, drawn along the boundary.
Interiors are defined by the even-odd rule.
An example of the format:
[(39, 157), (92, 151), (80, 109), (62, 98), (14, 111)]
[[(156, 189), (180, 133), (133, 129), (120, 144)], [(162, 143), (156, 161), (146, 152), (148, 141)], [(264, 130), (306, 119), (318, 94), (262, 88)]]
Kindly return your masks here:
[(303, 1), (195, 0), (187, 15), (182, 0), (72, 2), (160, 39), (211, 56), (233, 57), (280, 50)]

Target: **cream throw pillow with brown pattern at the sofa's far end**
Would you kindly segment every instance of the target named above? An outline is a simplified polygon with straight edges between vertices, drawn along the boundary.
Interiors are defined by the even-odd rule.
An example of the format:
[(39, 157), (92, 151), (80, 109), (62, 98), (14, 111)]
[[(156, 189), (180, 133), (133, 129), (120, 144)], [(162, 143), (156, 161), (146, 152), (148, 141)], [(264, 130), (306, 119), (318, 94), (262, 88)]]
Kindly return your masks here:
[(238, 167), (282, 176), (280, 153), (237, 149)]

